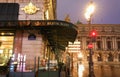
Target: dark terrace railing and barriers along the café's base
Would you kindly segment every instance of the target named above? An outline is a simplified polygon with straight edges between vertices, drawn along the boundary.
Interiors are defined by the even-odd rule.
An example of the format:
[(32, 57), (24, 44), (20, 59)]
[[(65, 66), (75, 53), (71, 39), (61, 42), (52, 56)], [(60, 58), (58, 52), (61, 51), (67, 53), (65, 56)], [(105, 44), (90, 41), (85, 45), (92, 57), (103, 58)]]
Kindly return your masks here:
[[(48, 61), (50, 62), (50, 61)], [(66, 68), (56, 68), (53, 69), (51, 68), (49, 65), (50, 64), (46, 64), (47, 68), (45, 66), (45, 68), (40, 69), (41, 67), (41, 60), (40, 57), (35, 57), (34, 58), (34, 65), (31, 64), (27, 64), (29, 66), (26, 67), (33, 67), (32, 69), (24, 69), (26, 67), (24, 67), (24, 62), (21, 61), (21, 67), (18, 67), (18, 64), (15, 66), (14, 64), (9, 63), (8, 66), (3, 66), (0, 67), (0, 69), (2, 69), (1, 73), (0, 73), (0, 77), (62, 77), (63, 75), (67, 76), (67, 70)], [(20, 68), (20, 70), (18, 70), (18, 68)], [(22, 70), (21, 70), (22, 69)], [(64, 70), (63, 70), (64, 69)]]

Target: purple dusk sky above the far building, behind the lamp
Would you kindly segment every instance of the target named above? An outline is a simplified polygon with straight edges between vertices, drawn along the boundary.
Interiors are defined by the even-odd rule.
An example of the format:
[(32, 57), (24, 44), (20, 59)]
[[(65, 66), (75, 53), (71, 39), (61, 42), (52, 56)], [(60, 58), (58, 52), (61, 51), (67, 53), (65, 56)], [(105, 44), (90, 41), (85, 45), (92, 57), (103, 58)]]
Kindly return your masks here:
[[(64, 20), (69, 14), (71, 22), (87, 23), (84, 13), (90, 0), (57, 0), (57, 19)], [(120, 24), (120, 0), (93, 0), (95, 12), (93, 24)]]

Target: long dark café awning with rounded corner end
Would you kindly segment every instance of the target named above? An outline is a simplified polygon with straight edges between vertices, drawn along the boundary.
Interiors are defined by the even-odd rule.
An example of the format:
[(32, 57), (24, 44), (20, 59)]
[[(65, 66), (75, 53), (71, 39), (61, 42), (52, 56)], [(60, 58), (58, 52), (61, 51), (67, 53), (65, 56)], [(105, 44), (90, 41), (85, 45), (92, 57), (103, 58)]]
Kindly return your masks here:
[(77, 27), (69, 22), (60, 20), (17, 20), (0, 21), (0, 30), (40, 30), (50, 46), (64, 50), (68, 42), (74, 42)]

